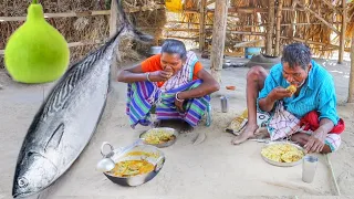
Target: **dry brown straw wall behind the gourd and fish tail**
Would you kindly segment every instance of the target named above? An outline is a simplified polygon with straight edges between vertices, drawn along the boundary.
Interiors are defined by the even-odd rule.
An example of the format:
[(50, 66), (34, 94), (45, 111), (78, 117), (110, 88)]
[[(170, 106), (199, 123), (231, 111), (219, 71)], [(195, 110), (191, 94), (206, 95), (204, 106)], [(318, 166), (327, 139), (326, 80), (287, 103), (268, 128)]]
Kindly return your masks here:
[[(0, 15), (1, 17), (21, 17), (27, 14), (27, 8), (30, 4), (30, 0), (0, 0)], [(108, 10), (111, 7), (110, 0), (87, 1), (87, 0), (40, 0), (46, 13), (60, 13), (70, 11), (92, 11), (92, 10)], [(139, 8), (142, 6), (149, 8), (155, 3), (160, 3), (160, 0), (125, 0), (124, 8)], [(139, 11), (129, 13), (132, 21), (145, 32), (150, 33), (155, 38), (160, 38), (162, 29), (165, 24), (165, 10), (152, 9), (148, 11)], [(70, 42), (93, 42), (103, 41), (110, 33), (110, 15), (95, 15), (84, 18), (55, 18), (48, 19), (48, 21), (56, 28)], [(6, 42), (15, 29), (18, 29), (23, 22), (0, 22), (0, 49), (4, 49)], [(146, 30), (145, 28), (149, 28)], [(152, 29), (154, 28), (154, 29)], [(156, 43), (156, 42), (155, 42)], [(71, 48), (71, 62), (80, 60), (83, 55), (87, 54), (100, 46), (100, 44), (84, 45)], [(148, 46), (137, 45), (129, 39), (125, 39), (119, 50), (122, 51), (121, 57), (123, 60), (136, 60), (139, 55), (136, 51), (147, 51)], [(0, 56), (0, 67), (3, 66), (3, 57)]]

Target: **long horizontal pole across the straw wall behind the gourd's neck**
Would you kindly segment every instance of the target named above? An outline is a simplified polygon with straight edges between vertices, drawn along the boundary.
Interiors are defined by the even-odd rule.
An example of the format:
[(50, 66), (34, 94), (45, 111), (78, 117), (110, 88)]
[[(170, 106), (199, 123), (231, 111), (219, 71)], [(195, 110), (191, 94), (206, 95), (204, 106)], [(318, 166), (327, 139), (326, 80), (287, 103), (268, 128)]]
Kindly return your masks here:
[[(157, 4), (154, 9), (163, 9), (164, 6)], [(150, 10), (152, 7), (140, 7), (125, 10), (126, 12), (139, 12)], [(63, 13), (44, 13), (44, 18), (73, 18), (73, 17), (93, 17), (93, 15), (110, 15), (110, 10), (93, 10), (84, 12), (63, 12)], [(25, 21), (27, 17), (0, 17), (0, 22), (2, 21)]]

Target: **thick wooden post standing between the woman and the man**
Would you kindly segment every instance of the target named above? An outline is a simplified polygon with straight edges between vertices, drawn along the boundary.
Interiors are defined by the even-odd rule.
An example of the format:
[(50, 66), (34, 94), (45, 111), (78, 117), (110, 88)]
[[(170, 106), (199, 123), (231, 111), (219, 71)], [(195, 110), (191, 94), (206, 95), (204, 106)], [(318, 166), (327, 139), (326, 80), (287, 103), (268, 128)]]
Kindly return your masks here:
[(221, 82), (222, 59), (229, 0), (216, 0), (211, 41), (211, 75)]

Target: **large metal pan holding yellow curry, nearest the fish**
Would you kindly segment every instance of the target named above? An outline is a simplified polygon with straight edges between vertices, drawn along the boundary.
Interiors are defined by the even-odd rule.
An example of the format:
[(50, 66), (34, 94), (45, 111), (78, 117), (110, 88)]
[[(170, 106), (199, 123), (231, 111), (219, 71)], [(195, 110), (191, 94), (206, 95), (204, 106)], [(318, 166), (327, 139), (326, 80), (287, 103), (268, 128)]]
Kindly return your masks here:
[[(113, 148), (112, 145), (111, 148)], [(103, 174), (111, 181), (127, 187), (139, 186), (152, 180), (165, 164), (163, 151), (140, 142), (125, 148), (113, 149), (108, 156), (104, 157), (111, 158), (115, 167)]]

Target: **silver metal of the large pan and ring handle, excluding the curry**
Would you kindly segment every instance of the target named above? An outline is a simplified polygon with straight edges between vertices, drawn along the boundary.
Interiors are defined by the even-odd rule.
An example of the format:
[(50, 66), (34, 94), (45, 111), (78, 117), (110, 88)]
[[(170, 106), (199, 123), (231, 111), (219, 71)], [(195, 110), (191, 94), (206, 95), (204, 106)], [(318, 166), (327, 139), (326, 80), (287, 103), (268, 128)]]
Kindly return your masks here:
[[(108, 145), (112, 150), (107, 154), (103, 153), (105, 145)], [(139, 151), (142, 155), (129, 155), (131, 153)], [(154, 154), (154, 156), (146, 156), (144, 153)], [(157, 147), (150, 145), (144, 145), (143, 140), (137, 140), (131, 146), (121, 149), (114, 149), (110, 143), (103, 143), (101, 147), (101, 154), (104, 158), (111, 158), (115, 164), (124, 160), (140, 160), (142, 158), (146, 159), (154, 165), (154, 170), (144, 175), (136, 175), (131, 177), (117, 177), (112, 175), (110, 171), (103, 172), (111, 181), (118, 184), (121, 186), (139, 186), (152, 180), (163, 168), (165, 164), (165, 155), (163, 151), (158, 150)]]

